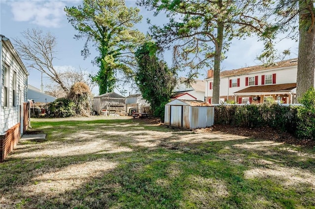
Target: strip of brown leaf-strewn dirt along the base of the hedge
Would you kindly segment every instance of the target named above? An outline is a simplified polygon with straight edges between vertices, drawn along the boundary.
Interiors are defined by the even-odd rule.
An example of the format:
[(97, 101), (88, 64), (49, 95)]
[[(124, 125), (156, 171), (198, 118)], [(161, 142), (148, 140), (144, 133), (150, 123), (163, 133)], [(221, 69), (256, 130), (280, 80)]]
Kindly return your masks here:
[(204, 131), (221, 131), (222, 133), (235, 134), (257, 139), (273, 140), (292, 145), (301, 145), (309, 148), (315, 148), (315, 141), (297, 139), (290, 133), (281, 132), (270, 127), (243, 128), (231, 125), (214, 125), (209, 128), (203, 128)]

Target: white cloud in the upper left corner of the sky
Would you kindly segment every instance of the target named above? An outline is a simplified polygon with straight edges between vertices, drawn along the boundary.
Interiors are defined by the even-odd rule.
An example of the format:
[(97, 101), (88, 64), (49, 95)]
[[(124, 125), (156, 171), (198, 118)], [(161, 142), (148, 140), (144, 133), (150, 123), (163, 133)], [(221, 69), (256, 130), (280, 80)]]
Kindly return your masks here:
[(65, 18), (63, 1), (9, 1), (15, 21), (58, 28)]

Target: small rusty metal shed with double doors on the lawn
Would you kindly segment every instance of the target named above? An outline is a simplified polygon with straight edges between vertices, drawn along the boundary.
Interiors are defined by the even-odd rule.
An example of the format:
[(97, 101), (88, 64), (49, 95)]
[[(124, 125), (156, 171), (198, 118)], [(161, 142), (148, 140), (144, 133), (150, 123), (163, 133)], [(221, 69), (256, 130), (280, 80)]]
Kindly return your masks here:
[(214, 124), (215, 108), (200, 100), (175, 99), (165, 105), (164, 124), (188, 129)]

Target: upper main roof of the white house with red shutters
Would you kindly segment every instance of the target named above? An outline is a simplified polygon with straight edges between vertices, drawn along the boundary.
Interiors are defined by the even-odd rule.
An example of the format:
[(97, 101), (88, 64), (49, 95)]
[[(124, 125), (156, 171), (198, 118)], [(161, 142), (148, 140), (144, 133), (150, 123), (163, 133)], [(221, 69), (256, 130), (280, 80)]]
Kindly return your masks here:
[(260, 71), (260, 70), (268, 70), (268, 69), (273, 69), (273, 68), (295, 66), (295, 65), (297, 65), (297, 58), (284, 60), (284, 61), (278, 61), (269, 66), (255, 65), (251, 67), (244, 67), (244, 68), (239, 68), (239, 69), (234, 69), (234, 70), (224, 70), (224, 71), (221, 71), (220, 77), (223, 78), (223, 77), (239, 76), (239, 75), (243, 75), (243, 74), (247, 74), (247, 73), (251, 73), (255, 71)]

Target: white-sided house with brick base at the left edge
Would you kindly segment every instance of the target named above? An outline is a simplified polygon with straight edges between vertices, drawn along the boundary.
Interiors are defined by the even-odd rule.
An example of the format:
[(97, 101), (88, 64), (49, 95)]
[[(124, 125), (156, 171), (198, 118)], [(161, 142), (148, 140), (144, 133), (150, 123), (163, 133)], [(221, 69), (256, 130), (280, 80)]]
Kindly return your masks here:
[(7, 150), (2, 151), (6, 149), (5, 140), (9, 137), (17, 143), (23, 134), (23, 103), (27, 102), (29, 73), (11, 41), (4, 35), (0, 35), (0, 38), (0, 161), (2, 161), (7, 153)]

